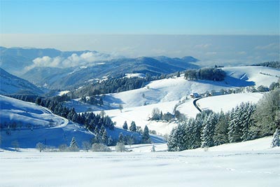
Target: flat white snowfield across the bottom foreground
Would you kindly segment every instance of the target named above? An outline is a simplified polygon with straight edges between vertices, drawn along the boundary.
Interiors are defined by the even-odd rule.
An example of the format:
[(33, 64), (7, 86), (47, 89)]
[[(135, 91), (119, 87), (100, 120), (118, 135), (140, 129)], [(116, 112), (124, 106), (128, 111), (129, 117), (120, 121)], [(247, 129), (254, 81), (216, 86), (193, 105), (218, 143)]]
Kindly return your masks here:
[[(173, 153), (7, 151), (0, 153), (0, 186), (278, 186), (280, 149), (269, 148), (270, 141), (251, 141), (248, 149), (242, 142), (239, 151), (231, 145)], [(250, 151), (258, 144), (262, 150)]]

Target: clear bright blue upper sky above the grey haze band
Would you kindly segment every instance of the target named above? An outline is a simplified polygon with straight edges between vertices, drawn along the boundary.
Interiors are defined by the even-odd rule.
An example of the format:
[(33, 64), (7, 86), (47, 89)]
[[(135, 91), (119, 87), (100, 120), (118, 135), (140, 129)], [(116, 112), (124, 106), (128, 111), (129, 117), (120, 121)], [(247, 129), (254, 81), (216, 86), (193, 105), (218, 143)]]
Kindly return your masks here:
[(1, 34), (279, 34), (279, 1), (6, 1)]

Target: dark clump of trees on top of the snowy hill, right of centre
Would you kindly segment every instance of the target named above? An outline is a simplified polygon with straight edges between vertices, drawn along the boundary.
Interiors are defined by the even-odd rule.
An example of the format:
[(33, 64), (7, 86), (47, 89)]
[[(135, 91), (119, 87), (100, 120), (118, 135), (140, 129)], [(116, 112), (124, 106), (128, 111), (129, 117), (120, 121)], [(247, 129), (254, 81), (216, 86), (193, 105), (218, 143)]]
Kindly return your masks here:
[(218, 68), (189, 69), (185, 72), (185, 78), (190, 81), (223, 81), (225, 79), (225, 71)]

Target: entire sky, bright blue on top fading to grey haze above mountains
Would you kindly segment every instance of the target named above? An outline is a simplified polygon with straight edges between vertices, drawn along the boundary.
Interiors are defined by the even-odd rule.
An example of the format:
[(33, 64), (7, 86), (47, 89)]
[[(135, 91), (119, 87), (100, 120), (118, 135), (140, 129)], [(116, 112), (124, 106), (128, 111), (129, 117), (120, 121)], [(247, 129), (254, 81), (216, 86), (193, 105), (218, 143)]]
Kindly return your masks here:
[(0, 46), (279, 60), (279, 7), (279, 0), (0, 0)]

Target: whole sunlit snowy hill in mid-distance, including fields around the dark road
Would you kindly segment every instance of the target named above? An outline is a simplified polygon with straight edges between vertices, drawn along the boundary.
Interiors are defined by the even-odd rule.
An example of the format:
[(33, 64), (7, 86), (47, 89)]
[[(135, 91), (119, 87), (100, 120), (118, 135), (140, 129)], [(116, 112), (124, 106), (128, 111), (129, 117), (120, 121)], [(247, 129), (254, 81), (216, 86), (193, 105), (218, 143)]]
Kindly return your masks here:
[[(160, 134), (169, 133), (176, 125), (175, 123), (165, 123), (148, 120), (154, 108), (160, 109), (162, 113), (173, 113), (176, 105), (177, 110), (186, 114), (188, 118), (195, 117), (199, 112), (193, 106), (193, 99), (186, 100), (193, 92), (204, 93), (216, 90), (216, 92), (228, 89), (245, 87), (248, 85), (269, 86), (272, 82), (278, 81), (280, 71), (267, 67), (230, 67), (224, 68), (227, 73), (225, 81), (187, 81), (180, 77), (165, 78), (148, 83), (144, 88), (108, 94), (104, 97), (104, 106), (92, 106), (76, 101), (68, 102), (69, 107), (74, 106), (76, 111), (96, 111), (104, 110), (116, 121), (118, 127), (122, 127), (125, 120), (130, 124), (132, 120), (137, 125), (144, 127), (148, 125), (150, 130), (155, 130)], [(261, 73), (261, 74), (260, 74)], [(228, 111), (241, 102), (258, 102), (262, 97), (260, 93), (242, 93), (235, 95), (221, 95), (207, 97), (197, 102), (202, 109), (212, 109), (214, 111)], [(225, 104), (226, 103), (226, 104)], [(123, 111), (119, 110), (122, 104)]]

